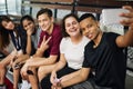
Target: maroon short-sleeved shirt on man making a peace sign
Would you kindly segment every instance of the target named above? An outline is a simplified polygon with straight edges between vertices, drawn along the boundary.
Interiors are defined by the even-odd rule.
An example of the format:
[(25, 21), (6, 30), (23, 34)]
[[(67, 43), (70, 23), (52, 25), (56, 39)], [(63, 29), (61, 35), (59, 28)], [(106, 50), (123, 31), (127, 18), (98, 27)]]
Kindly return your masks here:
[(62, 39), (60, 26), (54, 24), (53, 31), (51, 34), (49, 34), (45, 31), (41, 31), (38, 48), (40, 47), (44, 36), (45, 36), (45, 39), (48, 39), (49, 37), (52, 37), (49, 41), (49, 49), (44, 51), (44, 57), (49, 57), (50, 55), (59, 55), (60, 53), (60, 42)]

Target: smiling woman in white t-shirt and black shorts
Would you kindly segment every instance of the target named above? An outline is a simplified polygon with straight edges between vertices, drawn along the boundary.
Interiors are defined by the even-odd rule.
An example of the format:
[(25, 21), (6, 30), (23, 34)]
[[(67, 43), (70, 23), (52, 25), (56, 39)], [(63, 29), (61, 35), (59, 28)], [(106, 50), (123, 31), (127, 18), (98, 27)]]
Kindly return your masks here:
[[(63, 18), (62, 23), (63, 39), (60, 43), (60, 60), (55, 63), (51, 75), (53, 81), (57, 78), (76, 71), (82, 67), (84, 47), (89, 42), (81, 32), (79, 18), (75, 14), (66, 14)], [(50, 66), (47, 67), (49, 68)], [(44, 69), (43, 72), (40, 71), (40, 73), (45, 73), (43, 79), (42, 77), (40, 79), (41, 88), (50, 89), (50, 75), (47, 76), (48, 72), (45, 70), (47, 69)]]

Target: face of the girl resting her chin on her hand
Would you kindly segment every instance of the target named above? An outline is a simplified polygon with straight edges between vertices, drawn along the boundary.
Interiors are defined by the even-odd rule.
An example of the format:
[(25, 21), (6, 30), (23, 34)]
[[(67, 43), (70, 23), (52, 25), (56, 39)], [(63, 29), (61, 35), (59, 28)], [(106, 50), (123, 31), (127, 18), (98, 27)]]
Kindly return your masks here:
[(34, 30), (34, 28), (35, 28), (34, 22), (31, 21), (31, 20), (28, 20), (28, 19), (25, 19), (25, 20), (22, 21), (22, 26), (23, 26), (23, 28), (24, 28), (25, 31), (27, 30)]

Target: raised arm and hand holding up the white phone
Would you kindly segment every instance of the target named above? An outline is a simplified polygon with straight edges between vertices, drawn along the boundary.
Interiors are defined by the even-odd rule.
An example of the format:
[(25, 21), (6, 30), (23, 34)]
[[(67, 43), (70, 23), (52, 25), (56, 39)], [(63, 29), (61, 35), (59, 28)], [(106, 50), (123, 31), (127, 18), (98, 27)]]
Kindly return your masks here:
[(119, 47), (127, 47), (133, 44), (133, 8), (130, 6), (123, 7), (123, 9), (127, 9), (129, 13), (121, 13), (121, 17), (125, 17), (126, 19), (122, 20), (121, 23), (123, 26), (127, 26), (129, 30), (124, 36), (119, 36), (116, 38), (116, 44)]

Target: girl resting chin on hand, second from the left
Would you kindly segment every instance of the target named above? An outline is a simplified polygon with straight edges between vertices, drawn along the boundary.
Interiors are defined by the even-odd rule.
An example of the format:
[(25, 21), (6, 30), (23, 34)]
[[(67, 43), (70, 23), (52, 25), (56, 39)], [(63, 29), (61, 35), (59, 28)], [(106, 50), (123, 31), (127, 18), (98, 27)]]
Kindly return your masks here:
[[(39, 32), (40, 32), (40, 30), (35, 27), (35, 22), (31, 16), (23, 16), (20, 20), (20, 24), (22, 27), (21, 39), (22, 39), (23, 55), (18, 57), (12, 62), (13, 85), (14, 85), (16, 89), (18, 88), (18, 81), (19, 81), (21, 66), (25, 62), (27, 59), (30, 58), (30, 56), (35, 53), (35, 50), (38, 47), (37, 44), (39, 41)], [(22, 78), (22, 79), (24, 79), (24, 78)], [(24, 82), (24, 81), (22, 80), (22, 82)], [(24, 86), (22, 85), (22, 88)], [(28, 86), (25, 86), (25, 87), (28, 87)]]

